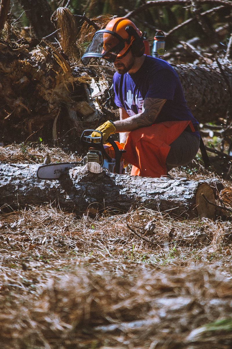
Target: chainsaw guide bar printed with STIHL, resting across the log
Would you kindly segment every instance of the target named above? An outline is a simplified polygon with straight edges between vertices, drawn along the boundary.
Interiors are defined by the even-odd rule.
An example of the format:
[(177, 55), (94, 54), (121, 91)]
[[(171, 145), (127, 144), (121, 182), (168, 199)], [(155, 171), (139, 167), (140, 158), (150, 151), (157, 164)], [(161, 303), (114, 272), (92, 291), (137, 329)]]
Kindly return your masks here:
[(36, 172), (38, 179), (58, 179), (61, 173), (68, 171), (72, 167), (85, 165), (83, 161), (79, 162), (58, 162), (39, 166)]

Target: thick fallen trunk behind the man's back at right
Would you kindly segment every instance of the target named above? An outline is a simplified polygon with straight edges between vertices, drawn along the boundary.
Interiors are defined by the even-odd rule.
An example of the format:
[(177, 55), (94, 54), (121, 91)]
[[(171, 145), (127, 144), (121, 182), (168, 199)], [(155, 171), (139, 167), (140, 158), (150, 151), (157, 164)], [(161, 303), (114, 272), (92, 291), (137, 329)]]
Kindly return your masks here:
[(225, 118), (232, 98), (229, 91), (232, 89), (232, 66), (229, 62), (224, 62), (222, 68), (223, 74), (216, 62), (207, 66), (174, 66), (181, 80), (187, 105), (202, 124)]

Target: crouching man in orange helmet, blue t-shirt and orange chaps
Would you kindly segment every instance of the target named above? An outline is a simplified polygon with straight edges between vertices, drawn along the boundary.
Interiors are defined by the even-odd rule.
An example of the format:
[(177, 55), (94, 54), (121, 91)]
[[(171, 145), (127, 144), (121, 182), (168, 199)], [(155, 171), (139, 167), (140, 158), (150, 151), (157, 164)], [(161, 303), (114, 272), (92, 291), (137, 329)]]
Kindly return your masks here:
[[(114, 18), (94, 35), (81, 60), (91, 57), (114, 63), (115, 104), (120, 120), (97, 128), (103, 142), (120, 133), (131, 174), (160, 177), (189, 163), (200, 146), (198, 121), (186, 105), (175, 70), (166, 62), (144, 55), (142, 32), (127, 18)], [(94, 136), (94, 134), (93, 134)]]

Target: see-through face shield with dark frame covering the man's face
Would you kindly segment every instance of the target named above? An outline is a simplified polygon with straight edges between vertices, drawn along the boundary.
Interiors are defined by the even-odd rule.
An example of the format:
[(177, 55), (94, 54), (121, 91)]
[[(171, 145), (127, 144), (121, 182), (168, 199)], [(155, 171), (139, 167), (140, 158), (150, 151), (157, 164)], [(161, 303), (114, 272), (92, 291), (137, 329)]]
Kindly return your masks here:
[(87, 65), (91, 57), (104, 58), (108, 62), (114, 62), (119, 52), (128, 46), (129, 39), (123, 39), (117, 33), (110, 30), (98, 30), (94, 34), (92, 42), (81, 57), (84, 65)]

